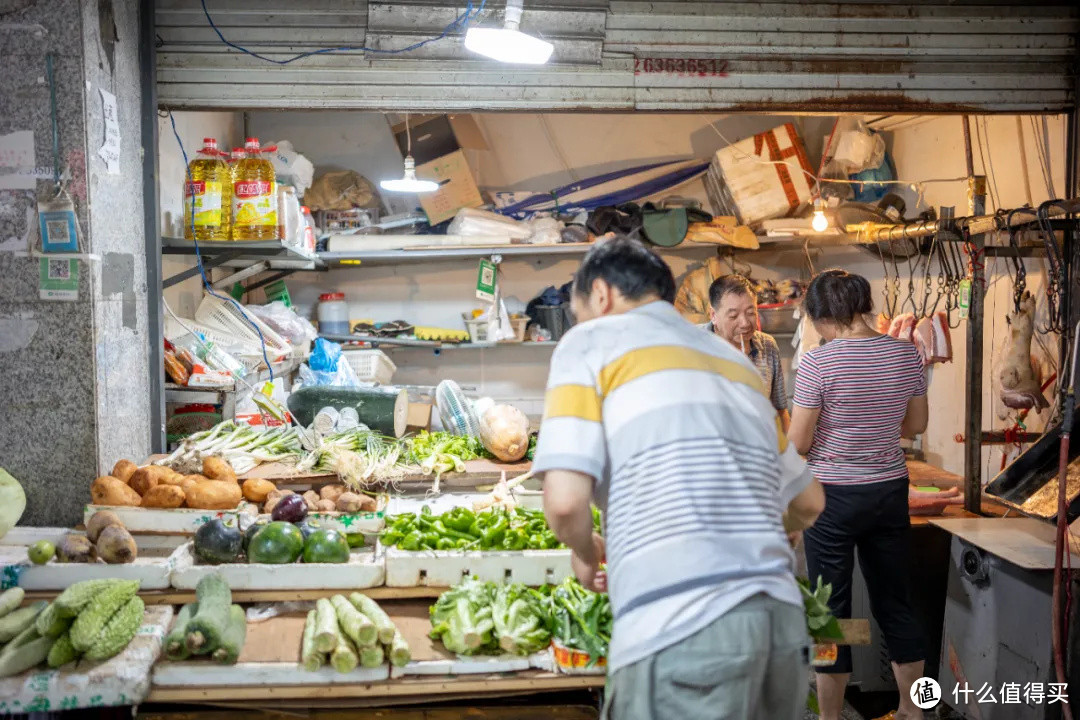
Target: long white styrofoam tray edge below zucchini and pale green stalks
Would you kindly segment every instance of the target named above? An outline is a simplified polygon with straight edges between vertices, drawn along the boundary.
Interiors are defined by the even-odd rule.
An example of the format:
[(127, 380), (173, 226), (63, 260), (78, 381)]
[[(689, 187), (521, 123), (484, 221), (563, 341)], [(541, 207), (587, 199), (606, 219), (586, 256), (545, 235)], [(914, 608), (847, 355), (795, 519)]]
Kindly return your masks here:
[(357, 667), (352, 673), (338, 673), (321, 667), (308, 673), (296, 663), (237, 663), (218, 665), (208, 661), (161, 663), (153, 668), (154, 687), (238, 687), (238, 685), (351, 685), (379, 682), (390, 677), (390, 668)]

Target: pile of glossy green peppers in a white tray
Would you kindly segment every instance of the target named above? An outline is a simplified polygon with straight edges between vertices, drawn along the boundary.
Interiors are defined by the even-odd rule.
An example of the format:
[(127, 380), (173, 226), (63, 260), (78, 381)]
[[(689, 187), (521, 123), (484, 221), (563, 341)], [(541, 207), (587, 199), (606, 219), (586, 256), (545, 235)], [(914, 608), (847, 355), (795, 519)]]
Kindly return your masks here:
[(387, 518), (379, 535), (387, 547), (403, 551), (524, 551), (564, 547), (548, 527), (543, 511), (515, 507), (474, 513), (455, 507), (433, 515), (424, 505), (419, 513)]

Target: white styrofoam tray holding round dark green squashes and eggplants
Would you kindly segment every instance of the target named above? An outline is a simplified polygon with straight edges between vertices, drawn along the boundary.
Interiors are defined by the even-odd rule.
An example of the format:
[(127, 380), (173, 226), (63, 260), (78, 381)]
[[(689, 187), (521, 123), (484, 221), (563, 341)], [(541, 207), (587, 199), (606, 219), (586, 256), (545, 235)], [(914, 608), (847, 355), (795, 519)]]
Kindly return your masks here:
[(200, 580), (213, 573), (220, 573), (234, 590), (362, 589), (378, 587), (386, 578), (382, 558), (362, 548), (353, 548), (348, 562), (200, 565), (191, 543), (187, 543), (176, 548), (172, 561), (171, 583), (177, 589), (194, 589)]

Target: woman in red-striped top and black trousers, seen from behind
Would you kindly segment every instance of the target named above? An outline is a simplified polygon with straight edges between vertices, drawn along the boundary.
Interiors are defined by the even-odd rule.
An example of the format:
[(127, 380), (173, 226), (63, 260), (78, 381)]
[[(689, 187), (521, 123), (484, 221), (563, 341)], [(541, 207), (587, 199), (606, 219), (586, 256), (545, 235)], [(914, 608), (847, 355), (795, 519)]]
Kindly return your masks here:
[[(799, 362), (789, 437), (825, 487), (825, 512), (806, 531), (810, 581), (833, 585), (829, 607), (851, 616), (854, 551), (870, 608), (885, 634), (900, 689), (900, 708), (887, 718), (922, 712), (908, 693), (922, 677), (922, 629), (907, 587), (910, 521), (907, 465), (900, 438), (927, 427), (927, 382), (909, 342), (866, 323), (872, 310), (865, 277), (821, 273), (804, 307), (826, 343)], [(822, 720), (839, 720), (851, 677), (851, 650), (818, 674)]]

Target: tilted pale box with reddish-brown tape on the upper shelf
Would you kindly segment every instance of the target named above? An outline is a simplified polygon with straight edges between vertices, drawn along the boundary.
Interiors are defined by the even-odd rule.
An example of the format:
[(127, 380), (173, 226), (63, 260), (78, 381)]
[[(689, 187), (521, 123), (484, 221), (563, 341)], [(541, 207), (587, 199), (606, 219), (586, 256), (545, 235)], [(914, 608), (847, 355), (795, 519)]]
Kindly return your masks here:
[(791, 215), (813, 191), (813, 169), (795, 130), (785, 123), (716, 151), (705, 174), (713, 215), (751, 225)]

